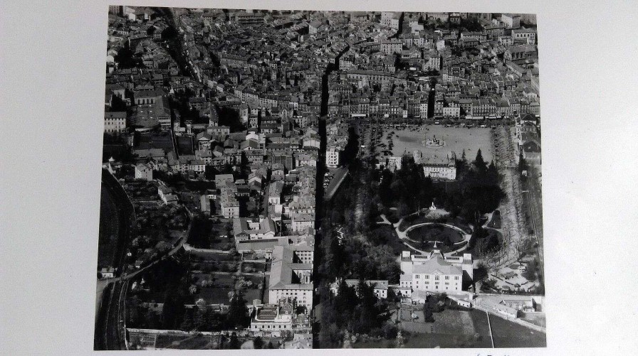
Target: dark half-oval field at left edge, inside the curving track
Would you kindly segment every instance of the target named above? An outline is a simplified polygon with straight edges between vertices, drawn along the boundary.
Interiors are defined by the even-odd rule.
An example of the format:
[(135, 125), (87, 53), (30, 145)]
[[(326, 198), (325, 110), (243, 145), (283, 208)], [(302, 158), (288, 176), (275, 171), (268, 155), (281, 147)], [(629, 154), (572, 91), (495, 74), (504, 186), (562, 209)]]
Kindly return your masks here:
[(117, 252), (119, 217), (113, 196), (102, 187), (100, 198), (100, 234), (98, 237), (98, 266), (113, 266)]

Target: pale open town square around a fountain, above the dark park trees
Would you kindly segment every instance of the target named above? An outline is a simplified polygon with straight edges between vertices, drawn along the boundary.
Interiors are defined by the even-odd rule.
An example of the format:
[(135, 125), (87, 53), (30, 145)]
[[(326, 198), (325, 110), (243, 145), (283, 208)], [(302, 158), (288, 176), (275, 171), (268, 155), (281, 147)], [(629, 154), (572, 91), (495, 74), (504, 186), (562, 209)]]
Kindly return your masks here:
[[(420, 131), (418, 129), (421, 129)], [(491, 129), (466, 127), (445, 127), (443, 125), (423, 125), (416, 130), (411, 129), (384, 129), (381, 142), (388, 145), (387, 135), (394, 131), (392, 135), (392, 156), (401, 156), (404, 152), (412, 154), (414, 150), (423, 153), (423, 158), (437, 156), (446, 157), (450, 151), (454, 151), (458, 158), (465, 150), (468, 161), (472, 161), (476, 156), (476, 151), (481, 149), (481, 154), (486, 162), (493, 158), (491, 145)], [(427, 147), (421, 144), (424, 139), (436, 139), (445, 141), (444, 146)], [(379, 149), (381, 151), (382, 148)]]

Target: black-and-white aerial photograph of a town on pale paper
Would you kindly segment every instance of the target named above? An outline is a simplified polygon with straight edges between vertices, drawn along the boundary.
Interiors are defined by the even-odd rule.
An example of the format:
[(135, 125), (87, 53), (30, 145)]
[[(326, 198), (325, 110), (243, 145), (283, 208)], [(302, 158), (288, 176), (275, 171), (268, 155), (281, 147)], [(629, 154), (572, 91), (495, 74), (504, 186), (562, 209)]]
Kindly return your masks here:
[(95, 350), (546, 346), (535, 15), (107, 38)]

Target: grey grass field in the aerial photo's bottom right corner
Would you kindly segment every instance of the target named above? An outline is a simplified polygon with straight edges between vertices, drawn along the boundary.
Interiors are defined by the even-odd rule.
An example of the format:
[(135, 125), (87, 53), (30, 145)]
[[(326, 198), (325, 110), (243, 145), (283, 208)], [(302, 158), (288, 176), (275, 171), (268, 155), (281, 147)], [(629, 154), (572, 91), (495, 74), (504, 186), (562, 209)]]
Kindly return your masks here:
[(545, 333), (490, 315), (494, 347), (547, 347)]

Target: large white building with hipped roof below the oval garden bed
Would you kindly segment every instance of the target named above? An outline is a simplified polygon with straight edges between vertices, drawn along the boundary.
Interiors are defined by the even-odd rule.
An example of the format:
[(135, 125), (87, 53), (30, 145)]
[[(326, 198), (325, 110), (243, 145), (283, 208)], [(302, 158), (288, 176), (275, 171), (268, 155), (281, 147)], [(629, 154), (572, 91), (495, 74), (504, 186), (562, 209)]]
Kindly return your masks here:
[(399, 290), (402, 296), (414, 291), (454, 293), (463, 290), (463, 281), (473, 278), (472, 255), (445, 257), (439, 250), (429, 255), (414, 255), (404, 251), (401, 255)]

